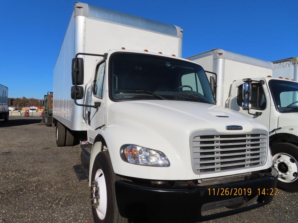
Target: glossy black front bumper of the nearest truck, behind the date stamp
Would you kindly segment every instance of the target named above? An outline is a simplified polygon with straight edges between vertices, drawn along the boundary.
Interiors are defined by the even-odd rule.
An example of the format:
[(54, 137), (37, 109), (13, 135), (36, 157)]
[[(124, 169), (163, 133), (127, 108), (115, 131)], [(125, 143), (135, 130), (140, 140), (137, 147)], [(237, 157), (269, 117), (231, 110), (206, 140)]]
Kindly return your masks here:
[[(116, 181), (115, 192), (117, 205), (123, 217), (140, 222), (181, 223), (207, 221), (248, 211), (270, 203), (273, 196), (267, 193), (271, 192), (270, 188), (276, 188), (277, 171), (271, 168), (271, 173), (267, 173), (266, 175), (260, 172), (254, 172), (253, 175), (253, 178), (249, 180), (183, 189), (177, 187), (160, 189), (154, 186), (144, 186), (140, 183)], [(221, 193), (222, 189), (226, 188), (228, 188), (228, 191), (232, 188), (242, 189), (243, 192), (244, 188), (246, 190), (251, 189), (251, 195), (217, 195), (218, 189)], [(215, 189), (215, 195), (213, 195), (213, 189)], [(258, 195), (258, 189), (260, 189), (261, 192), (265, 189), (266, 194)], [(236, 197), (243, 200), (250, 200), (253, 197), (257, 197), (257, 202), (254, 202), (252, 205), (229, 209), (228, 211), (220, 213), (209, 214), (207, 212), (207, 215), (205, 215), (206, 207), (207, 210), (209, 210), (210, 207), (212, 209), (214, 205), (220, 205), (220, 203)], [(206, 203), (208, 204), (204, 205)], [(202, 215), (202, 210), (205, 210), (204, 215)]]

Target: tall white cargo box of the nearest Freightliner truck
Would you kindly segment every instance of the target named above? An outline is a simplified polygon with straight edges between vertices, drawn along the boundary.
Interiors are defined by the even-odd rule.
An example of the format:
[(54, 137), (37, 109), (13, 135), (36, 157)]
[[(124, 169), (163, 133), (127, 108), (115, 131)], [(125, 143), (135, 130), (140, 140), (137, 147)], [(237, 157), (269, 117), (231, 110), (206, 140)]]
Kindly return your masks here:
[[(60, 52), (54, 67), (53, 117), (75, 131), (87, 130), (83, 107), (76, 106), (70, 97), (71, 64), (77, 53), (104, 54), (111, 49), (149, 52), (181, 57), (183, 30), (150, 19), (128, 15), (84, 3), (75, 3)], [(94, 72), (91, 56), (84, 58), (84, 84)], [(82, 103), (82, 100), (77, 100)]]

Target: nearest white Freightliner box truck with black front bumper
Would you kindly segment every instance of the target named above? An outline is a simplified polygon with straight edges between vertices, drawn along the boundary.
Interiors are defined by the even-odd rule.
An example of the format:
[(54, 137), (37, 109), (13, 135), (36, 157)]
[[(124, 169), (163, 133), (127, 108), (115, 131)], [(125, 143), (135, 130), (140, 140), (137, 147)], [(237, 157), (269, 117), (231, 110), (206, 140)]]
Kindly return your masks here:
[(276, 193), (268, 129), (216, 106), (181, 43), (177, 26), (75, 3), (53, 120), (58, 146), (81, 139), (94, 222), (198, 222)]

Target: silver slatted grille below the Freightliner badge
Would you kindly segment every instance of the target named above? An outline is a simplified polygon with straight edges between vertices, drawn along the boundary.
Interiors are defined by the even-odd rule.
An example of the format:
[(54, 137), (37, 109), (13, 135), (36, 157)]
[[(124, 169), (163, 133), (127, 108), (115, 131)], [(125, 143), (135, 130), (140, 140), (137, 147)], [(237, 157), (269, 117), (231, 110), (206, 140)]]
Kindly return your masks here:
[[(196, 134), (197, 133), (197, 134)], [(266, 160), (266, 134), (192, 134), (192, 160), (196, 174), (259, 167)]]

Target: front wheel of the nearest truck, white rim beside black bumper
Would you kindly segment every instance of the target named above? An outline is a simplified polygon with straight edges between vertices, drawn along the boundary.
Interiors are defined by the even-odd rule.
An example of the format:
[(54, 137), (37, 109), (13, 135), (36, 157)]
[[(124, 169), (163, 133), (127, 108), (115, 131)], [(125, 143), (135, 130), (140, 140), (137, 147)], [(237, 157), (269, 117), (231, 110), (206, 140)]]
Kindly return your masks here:
[(94, 160), (91, 174), (91, 206), (95, 223), (128, 222), (118, 210), (115, 194), (117, 178), (108, 151), (100, 152)]

